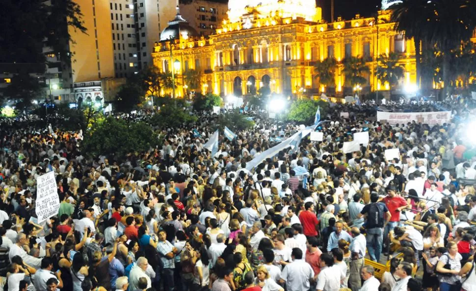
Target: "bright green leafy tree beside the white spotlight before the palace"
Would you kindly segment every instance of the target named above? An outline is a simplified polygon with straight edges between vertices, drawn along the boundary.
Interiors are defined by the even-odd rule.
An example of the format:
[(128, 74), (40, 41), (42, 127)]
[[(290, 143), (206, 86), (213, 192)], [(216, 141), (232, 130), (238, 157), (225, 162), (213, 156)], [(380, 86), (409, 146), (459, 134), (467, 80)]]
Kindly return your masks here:
[(291, 121), (311, 124), (314, 122), (314, 117), (316, 116), (318, 106), (320, 106), (320, 116), (322, 120), (329, 110), (329, 103), (322, 100), (314, 101), (310, 99), (294, 101), (291, 104), (291, 108), (288, 113), (288, 119)]

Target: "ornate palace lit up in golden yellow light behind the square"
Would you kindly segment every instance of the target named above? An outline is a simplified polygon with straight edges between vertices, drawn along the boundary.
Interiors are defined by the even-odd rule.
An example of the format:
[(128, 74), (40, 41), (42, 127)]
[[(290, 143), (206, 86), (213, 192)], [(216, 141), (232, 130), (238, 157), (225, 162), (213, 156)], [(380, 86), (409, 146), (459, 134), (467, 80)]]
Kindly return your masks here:
[[(351, 95), (353, 88), (342, 72), (342, 61), (350, 56), (364, 58), (370, 69), (364, 75), (366, 84), (361, 85), (363, 94), (386, 91), (389, 84), (380, 84), (374, 76), (375, 59), (390, 52), (400, 54), (400, 65), (405, 68), (404, 78), (395, 89), (415, 84), (413, 41), (393, 29), (390, 11), (379, 11), (377, 23), (375, 18), (359, 15), (325, 23), (315, 0), (258, 2), (230, 0), (228, 18), (208, 38), (200, 37), (177, 9), (152, 56), (161, 72), (174, 70), (177, 97), (186, 95), (187, 70), (201, 72), (202, 93), (221, 96), (246, 95), (261, 87), (286, 96)], [(334, 86), (321, 85), (315, 77), (315, 63), (326, 58), (338, 62)]]

